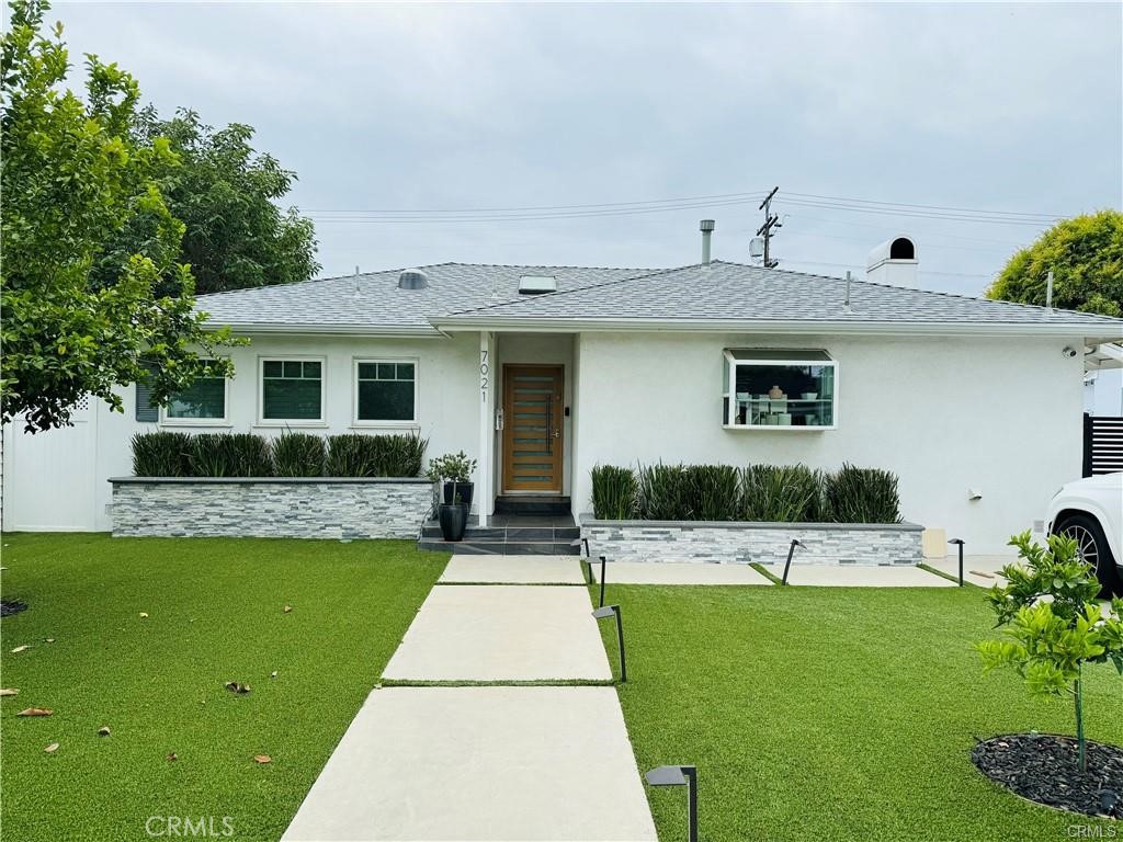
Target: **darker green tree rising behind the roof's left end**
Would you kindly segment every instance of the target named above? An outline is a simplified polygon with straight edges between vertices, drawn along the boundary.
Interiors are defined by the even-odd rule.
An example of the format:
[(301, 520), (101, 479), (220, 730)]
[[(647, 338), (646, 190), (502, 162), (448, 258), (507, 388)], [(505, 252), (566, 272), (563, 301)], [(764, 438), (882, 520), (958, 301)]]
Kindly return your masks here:
[[(296, 176), (254, 150), (253, 128), (232, 123), (216, 130), (186, 109), (163, 120), (149, 107), (131, 130), (138, 146), (166, 139), (179, 158), (161, 189), (172, 216), (185, 226), (177, 259), (191, 266), (197, 293), (307, 281), (319, 271), (311, 220), (275, 204)], [(135, 220), (104, 255), (99, 282), (111, 278), (122, 257), (149, 238), (145, 221)]]

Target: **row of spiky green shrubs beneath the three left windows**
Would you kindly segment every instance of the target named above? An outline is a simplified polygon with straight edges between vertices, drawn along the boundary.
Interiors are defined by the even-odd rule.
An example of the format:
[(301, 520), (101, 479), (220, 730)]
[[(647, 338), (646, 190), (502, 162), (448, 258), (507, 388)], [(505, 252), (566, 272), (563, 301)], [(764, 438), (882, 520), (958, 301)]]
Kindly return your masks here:
[(137, 476), (420, 476), (428, 439), (416, 434), (313, 436), (145, 432), (133, 437)]

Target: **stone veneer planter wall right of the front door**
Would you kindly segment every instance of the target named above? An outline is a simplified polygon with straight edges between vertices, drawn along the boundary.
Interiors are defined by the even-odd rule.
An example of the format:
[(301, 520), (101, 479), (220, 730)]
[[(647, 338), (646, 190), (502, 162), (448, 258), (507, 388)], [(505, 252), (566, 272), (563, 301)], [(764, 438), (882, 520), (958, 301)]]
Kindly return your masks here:
[(609, 560), (779, 564), (917, 565), (921, 532), (915, 523), (749, 523), (738, 521), (599, 521), (581, 516), (592, 555)]

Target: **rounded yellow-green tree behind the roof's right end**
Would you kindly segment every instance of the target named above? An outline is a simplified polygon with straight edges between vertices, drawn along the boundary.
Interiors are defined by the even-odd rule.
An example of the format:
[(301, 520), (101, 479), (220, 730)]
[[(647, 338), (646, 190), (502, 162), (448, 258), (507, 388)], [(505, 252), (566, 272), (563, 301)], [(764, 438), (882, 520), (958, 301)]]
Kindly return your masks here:
[(1123, 213), (1104, 210), (1066, 219), (1010, 258), (987, 298), (1046, 303), (1053, 273), (1053, 306), (1123, 315)]

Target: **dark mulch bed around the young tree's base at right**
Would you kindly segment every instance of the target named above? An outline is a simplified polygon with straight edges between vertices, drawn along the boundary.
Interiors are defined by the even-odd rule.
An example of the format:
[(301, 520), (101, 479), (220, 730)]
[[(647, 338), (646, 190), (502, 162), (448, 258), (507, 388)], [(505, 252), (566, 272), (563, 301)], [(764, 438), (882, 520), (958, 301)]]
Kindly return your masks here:
[(1056, 734), (995, 736), (971, 750), (971, 761), (993, 781), (1031, 802), (1123, 818), (1123, 748), (1090, 740), (1086, 747), (1087, 772), (1080, 771), (1076, 739)]

